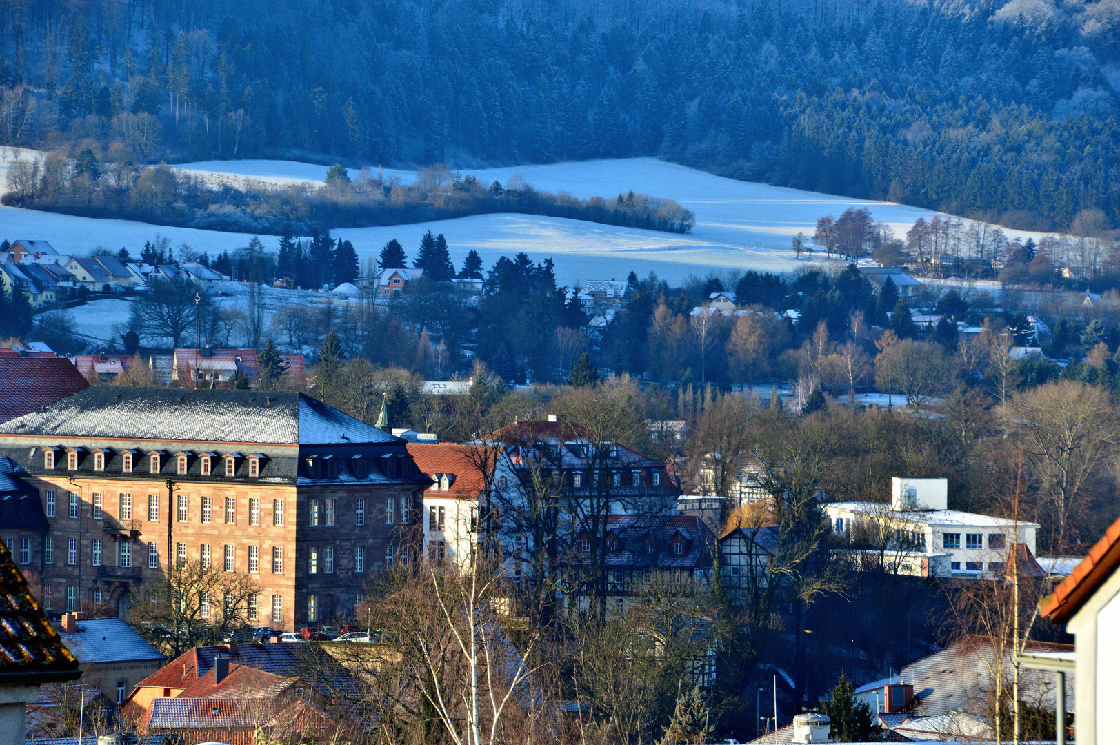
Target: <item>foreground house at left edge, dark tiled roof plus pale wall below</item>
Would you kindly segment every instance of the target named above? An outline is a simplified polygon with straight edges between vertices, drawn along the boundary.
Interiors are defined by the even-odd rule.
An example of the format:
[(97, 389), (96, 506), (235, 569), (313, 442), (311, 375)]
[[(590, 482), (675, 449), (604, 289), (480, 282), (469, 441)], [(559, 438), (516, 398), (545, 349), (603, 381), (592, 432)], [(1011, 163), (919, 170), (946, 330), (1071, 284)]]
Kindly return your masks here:
[(82, 671), (32, 597), (15, 558), (0, 546), (0, 745), (24, 745), (27, 705), (39, 686), (76, 680)]

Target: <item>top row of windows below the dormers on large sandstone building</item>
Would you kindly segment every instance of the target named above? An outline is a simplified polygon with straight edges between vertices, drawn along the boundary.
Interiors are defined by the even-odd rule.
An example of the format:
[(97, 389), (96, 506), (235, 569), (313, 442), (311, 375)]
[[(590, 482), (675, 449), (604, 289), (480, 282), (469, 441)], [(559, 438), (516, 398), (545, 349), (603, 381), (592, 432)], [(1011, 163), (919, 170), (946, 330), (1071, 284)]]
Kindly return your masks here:
[[(198, 519), (204, 525), (213, 524), (214, 522), (214, 502), (211, 496), (198, 497)], [(159, 494), (148, 495), (148, 522), (159, 522)], [(178, 494), (176, 496), (176, 522), (189, 522), (190, 513), (190, 497), (186, 494)], [(272, 500), (272, 524), (276, 527), (283, 525), (283, 500)], [(337, 524), (338, 510), (337, 500), (308, 500), (308, 524), (311, 527), (334, 527)], [(46, 504), (47, 504), (47, 516), (54, 518), (57, 513), (57, 499), (53, 490), (47, 490), (46, 492)], [(81, 509), (81, 497), (77, 492), (67, 492), (67, 504), (68, 504), (68, 516), (72, 520), (77, 520), (80, 516)], [(226, 496), (224, 497), (224, 503), (218, 505), (222, 509), (221, 514), (217, 516), (226, 525), (235, 525), (237, 523), (237, 502), (235, 497)], [(385, 499), (385, 524), (392, 525), (395, 521), (395, 510), (396, 499), (386, 497)], [(100, 492), (94, 492), (93, 494), (93, 519), (102, 520), (104, 518), (104, 495)], [(408, 524), (410, 513), (410, 501), (409, 497), (404, 496), (400, 500), (400, 522), (401, 524)], [(132, 495), (131, 494), (119, 494), (118, 495), (118, 507), (116, 514), (120, 520), (132, 520)], [(354, 500), (354, 524), (364, 525), (366, 516), (365, 497), (358, 497)], [(249, 524), (260, 525), (261, 524), (261, 501), (256, 497), (249, 497)]]

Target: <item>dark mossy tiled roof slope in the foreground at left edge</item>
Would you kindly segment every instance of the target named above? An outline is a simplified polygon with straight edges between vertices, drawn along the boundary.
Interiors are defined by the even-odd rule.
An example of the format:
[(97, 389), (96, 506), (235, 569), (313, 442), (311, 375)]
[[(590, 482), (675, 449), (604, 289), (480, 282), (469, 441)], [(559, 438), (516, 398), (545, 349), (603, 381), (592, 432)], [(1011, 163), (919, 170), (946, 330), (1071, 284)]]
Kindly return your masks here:
[(75, 680), (77, 665), (0, 542), (0, 686)]

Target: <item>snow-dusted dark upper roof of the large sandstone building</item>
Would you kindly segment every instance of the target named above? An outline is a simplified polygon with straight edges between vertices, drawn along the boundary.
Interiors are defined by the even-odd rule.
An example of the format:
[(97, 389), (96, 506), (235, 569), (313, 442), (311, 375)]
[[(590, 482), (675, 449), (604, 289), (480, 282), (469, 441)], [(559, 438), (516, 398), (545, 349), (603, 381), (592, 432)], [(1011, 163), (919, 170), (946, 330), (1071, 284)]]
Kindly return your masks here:
[(0, 425), (0, 434), (276, 445), (402, 441), (304, 393), (105, 385)]

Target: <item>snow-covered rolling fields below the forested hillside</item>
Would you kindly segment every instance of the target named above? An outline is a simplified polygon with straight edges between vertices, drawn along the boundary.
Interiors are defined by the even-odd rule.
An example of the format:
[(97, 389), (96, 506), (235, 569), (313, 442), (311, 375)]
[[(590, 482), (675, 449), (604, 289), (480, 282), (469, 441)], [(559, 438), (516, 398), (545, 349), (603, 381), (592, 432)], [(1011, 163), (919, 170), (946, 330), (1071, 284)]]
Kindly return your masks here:
[[(9, 153), (11, 150), (8, 151)], [(268, 183), (314, 183), (326, 175), (325, 166), (278, 160), (206, 161), (179, 166), (214, 179), (253, 178)], [(0, 188), (7, 164), (0, 167)], [(573, 220), (534, 215), (475, 215), (456, 220), (388, 227), (361, 227), (334, 231), (352, 241), (358, 257), (376, 255), (391, 238), (404, 244), (412, 255), (424, 231), (444, 233), (458, 266), (467, 251), (482, 254), (487, 266), (500, 255), (524, 251), (535, 260), (552, 257), (557, 278), (573, 283), (597, 278), (622, 279), (631, 271), (680, 281), (690, 274), (710, 271), (756, 269), (792, 272), (810, 263), (795, 261), (790, 239), (799, 231), (811, 235), (816, 218), (839, 215), (849, 206), (871, 209), (872, 215), (903, 234), (917, 217), (935, 213), (886, 202), (865, 202), (847, 197), (801, 192), (729, 178), (664, 162), (655, 158), (627, 158), (519, 166), (469, 171), (479, 180), (507, 183), (516, 174), (534, 187), (570, 192), (579, 197), (613, 196), (634, 189), (670, 197), (692, 209), (696, 227), (688, 235), (615, 227)], [(353, 174), (353, 171), (352, 171)], [(386, 171), (402, 181), (414, 178), (411, 171)], [(1028, 235), (1007, 231), (1010, 235)], [(118, 220), (94, 220), (71, 215), (0, 207), (0, 234), (9, 238), (43, 239), (65, 253), (86, 253), (103, 245), (128, 246), (137, 253), (146, 240), (160, 233), (172, 244), (187, 243), (211, 253), (245, 245), (248, 235), (168, 227)], [(1035, 234), (1037, 240), (1039, 236)], [(268, 245), (277, 238), (262, 236)], [(814, 262), (823, 262), (814, 259)]]

